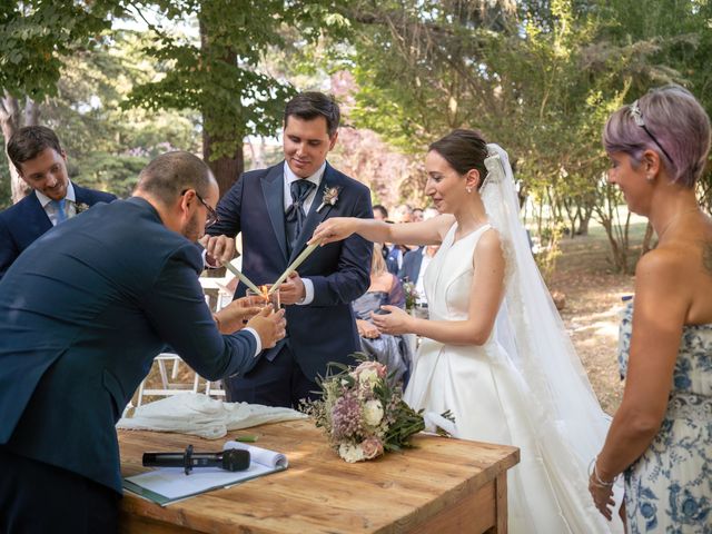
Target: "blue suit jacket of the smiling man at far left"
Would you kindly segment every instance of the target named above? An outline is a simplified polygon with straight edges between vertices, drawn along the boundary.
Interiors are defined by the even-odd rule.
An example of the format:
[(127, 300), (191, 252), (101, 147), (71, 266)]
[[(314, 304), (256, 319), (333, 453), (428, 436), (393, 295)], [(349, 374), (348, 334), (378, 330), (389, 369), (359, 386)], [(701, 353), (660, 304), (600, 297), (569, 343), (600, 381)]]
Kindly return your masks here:
[[(110, 192), (79, 187), (73, 181), (71, 185), (75, 188), (77, 204), (93, 206), (97, 202), (116, 200)], [(52, 222), (34, 191), (14, 206), (0, 211), (0, 278), (4, 276), (20, 253), (50, 228)]]

